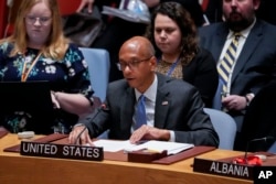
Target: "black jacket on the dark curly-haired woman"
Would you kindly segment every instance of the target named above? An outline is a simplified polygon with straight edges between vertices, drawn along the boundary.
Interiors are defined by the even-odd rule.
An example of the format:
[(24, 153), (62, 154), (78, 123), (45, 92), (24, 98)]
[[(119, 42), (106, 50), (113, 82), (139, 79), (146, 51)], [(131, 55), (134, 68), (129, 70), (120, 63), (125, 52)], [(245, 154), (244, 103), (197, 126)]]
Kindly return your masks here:
[(205, 107), (211, 108), (219, 85), (219, 74), (212, 54), (205, 48), (199, 48), (182, 71), (183, 79), (198, 88)]

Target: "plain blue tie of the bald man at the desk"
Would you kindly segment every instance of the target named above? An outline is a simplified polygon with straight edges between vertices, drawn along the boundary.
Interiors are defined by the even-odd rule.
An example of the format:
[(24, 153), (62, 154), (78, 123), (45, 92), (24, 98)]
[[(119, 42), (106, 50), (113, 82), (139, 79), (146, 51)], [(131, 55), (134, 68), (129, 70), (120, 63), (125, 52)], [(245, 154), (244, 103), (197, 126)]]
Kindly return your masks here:
[(135, 129), (140, 128), (142, 125), (147, 125), (147, 116), (146, 116), (146, 106), (145, 106), (145, 96), (141, 95), (137, 102), (137, 109), (135, 113)]

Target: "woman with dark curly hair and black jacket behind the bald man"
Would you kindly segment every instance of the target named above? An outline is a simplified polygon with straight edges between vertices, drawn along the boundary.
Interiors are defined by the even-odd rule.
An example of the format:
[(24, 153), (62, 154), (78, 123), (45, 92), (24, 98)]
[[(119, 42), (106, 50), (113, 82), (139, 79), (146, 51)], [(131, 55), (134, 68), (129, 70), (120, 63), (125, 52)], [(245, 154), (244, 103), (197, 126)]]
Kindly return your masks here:
[(161, 3), (152, 12), (146, 36), (157, 51), (157, 71), (195, 86), (205, 107), (212, 107), (219, 84), (215, 61), (199, 47), (190, 13), (178, 2)]

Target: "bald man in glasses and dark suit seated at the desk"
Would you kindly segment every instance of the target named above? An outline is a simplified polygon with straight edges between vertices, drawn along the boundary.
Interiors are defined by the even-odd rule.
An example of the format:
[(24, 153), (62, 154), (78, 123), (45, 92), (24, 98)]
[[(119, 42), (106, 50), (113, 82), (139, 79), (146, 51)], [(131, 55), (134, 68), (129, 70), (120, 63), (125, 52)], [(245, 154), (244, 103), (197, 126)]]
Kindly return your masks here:
[[(135, 36), (119, 50), (125, 79), (110, 83), (105, 107), (74, 127), (70, 142), (91, 143), (109, 129), (109, 138), (136, 143), (140, 140), (163, 140), (219, 145), (219, 137), (206, 113), (199, 91), (188, 83), (157, 74), (155, 48), (149, 40)], [(136, 129), (134, 118), (140, 95), (146, 100), (147, 122)]]

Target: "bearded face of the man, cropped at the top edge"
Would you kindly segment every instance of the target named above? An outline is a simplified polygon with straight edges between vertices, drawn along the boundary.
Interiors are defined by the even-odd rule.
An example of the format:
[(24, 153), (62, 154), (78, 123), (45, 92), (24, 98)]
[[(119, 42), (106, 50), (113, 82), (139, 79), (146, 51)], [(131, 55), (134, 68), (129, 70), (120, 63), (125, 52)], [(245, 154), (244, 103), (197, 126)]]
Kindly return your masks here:
[(223, 15), (233, 31), (246, 29), (255, 18), (259, 0), (223, 0)]

